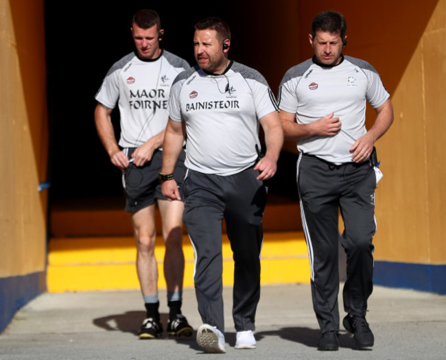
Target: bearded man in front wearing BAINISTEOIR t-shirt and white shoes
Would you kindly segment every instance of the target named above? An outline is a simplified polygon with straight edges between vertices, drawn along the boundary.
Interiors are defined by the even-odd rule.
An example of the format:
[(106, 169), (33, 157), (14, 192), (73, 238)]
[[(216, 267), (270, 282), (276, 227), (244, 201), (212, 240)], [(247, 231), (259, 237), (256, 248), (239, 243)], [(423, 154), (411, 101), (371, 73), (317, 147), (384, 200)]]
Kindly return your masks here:
[[(260, 296), (264, 180), (274, 176), (283, 143), (277, 104), (264, 77), (228, 59), (231, 33), (222, 19), (195, 25), (198, 65), (180, 73), (169, 98), (165, 131), (163, 194), (181, 200), (172, 179), (187, 136), (183, 220), (195, 251), (193, 280), (204, 324), (197, 342), (207, 352), (225, 352), (222, 298), (222, 220), (234, 259), (235, 348), (255, 348), (255, 312)], [(185, 132), (183, 132), (183, 125)], [(259, 125), (265, 132), (261, 156)]]

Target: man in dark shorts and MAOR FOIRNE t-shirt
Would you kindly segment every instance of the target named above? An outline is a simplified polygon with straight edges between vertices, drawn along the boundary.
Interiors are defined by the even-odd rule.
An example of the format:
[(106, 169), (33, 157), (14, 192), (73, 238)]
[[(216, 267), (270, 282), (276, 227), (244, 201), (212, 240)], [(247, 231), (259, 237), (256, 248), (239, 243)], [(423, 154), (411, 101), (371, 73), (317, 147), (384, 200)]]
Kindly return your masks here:
[[(191, 336), (192, 328), (181, 314), (183, 274), (183, 202), (169, 202), (161, 193), (159, 171), (162, 162), (164, 130), (167, 124), (167, 101), (172, 81), (189, 64), (161, 49), (159, 15), (140, 10), (132, 20), (135, 51), (113, 64), (95, 99), (95, 123), (99, 138), (110, 160), (123, 173), (126, 211), (132, 214), (137, 244), (137, 273), (146, 317), (139, 329), (141, 339), (163, 333), (159, 314), (158, 265), (154, 255), (156, 229), (155, 204), (163, 223), (165, 242), (164, 276), (169, 306), (169, 335)], [(119, 106), (121, 134), (119, 143), (111, 120)], [(185, 174), (184, 152), (175, 169), (178, 182)]]

